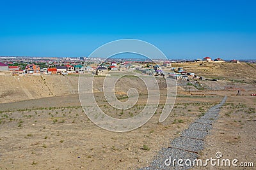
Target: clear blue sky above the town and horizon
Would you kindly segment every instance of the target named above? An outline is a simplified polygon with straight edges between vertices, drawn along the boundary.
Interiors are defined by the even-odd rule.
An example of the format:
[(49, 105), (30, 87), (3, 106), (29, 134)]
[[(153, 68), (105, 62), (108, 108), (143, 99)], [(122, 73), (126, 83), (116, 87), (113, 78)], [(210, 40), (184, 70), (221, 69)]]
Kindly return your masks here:
[(88, 56), (116, 39), (170, 58), (256, 59), (256, 1), (0, 1), (0, 55)]

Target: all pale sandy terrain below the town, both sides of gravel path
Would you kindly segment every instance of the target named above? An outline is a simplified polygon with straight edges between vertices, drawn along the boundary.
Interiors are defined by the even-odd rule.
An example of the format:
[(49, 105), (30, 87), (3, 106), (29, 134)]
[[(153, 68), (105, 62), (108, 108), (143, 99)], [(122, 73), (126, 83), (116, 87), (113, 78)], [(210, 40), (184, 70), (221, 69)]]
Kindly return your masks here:
[[(99, 77), (95, 81), (100, 80)], [(256, 97), (250, 96), (256, 93), (256, 83), (200, 81), (205, 87), (235, 85), (245, 90), (242, 96), (236, 96), (236, 89), (185, 92), (184, 87), (179, 87), (171, 115), (160, 124), (166, 93), (164, 82), (159, 79), (161, 100), (154, 117), (134, 131), (109, 132), (97, 127), (84, 114), (77, 95), (77, 81), (78, 76), (0, 75), (0, 169), (145, 167), (161, 148), (170, 146), (170, 139), (180, 136), (180, 132), (223, 96), (228, 96), (227, 103), (213, 124), (212, 135), (205, 139), (206, 147), (200, 158), (207, 159), (221, 152), (223, 157), (256, 164)], [(100, 86), (95, 87), (99, 106), (112, 117), (129, 118), (143, 109), (145, 88), (137, 80), (126, 82), (117, 83), (117, 97), (124, 97), (125, 87), (132, 85), (142, 97), (136, 106), (124, 112), (111, 108), (102, 100)]]

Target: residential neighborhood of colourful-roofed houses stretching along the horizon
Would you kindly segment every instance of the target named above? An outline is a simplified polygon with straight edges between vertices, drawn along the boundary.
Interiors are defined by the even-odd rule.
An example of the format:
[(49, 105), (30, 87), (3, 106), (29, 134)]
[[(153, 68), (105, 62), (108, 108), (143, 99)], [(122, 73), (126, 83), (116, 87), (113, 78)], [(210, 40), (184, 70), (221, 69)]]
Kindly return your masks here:
[[(180, 60), (125, 60), (100, 58), (47, 58), (47, 57), (0, 57), (0, 71), (10, 73), (13, 76), (26, 75), (68, 75), (68, 74), (94, 74), (95, 76), (111, 75), (112, 71), (136, 71), (150, 76), (165, 76), (176, 80), (205, 80), (204, 76), (186, 71), (184, 67), (172, 67), (171, 64), (199, 63), (240, 63), (239, 60), (225, 61), (220, 57), (180, 61)], [(243, 62), (243, 61), (242, 61)]]

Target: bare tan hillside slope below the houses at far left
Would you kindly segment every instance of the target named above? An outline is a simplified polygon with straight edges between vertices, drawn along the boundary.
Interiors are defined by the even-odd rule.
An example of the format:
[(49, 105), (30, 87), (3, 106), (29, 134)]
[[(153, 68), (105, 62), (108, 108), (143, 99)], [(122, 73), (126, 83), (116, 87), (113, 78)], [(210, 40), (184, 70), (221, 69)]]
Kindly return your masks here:
[(78, 76), (0, 75), (0, 103), (77, 94)]

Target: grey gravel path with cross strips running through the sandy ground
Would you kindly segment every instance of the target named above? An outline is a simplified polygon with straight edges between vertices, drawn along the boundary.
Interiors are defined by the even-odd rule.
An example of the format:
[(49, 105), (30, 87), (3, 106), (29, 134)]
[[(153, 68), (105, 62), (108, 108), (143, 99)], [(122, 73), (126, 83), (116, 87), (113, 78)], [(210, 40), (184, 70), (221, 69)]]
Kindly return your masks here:
[[(198, 152), (204, 149), (204, 138), (210, 134), (212, 129), (212, 123), (218, 119), (220, 107), (225, 103), (227, 96), (223, 98), (221, 103), (212, 106), (204, 116), (198, 118), (194, 123), (189, 125), (188, 129), (182, 132), (179, 138), (175, 138), (171, 141), (171, 146), (168, 148), (162, 148), (156, 158), (148, 167), (143, 167), (145, 170), (153, 169), (189, 169), (193, 166), (189, 166), (189, 160), (193, 165), (193, 160), (197, 159)], [(181, 164), (184, 166), (178, 166), (177, 160), (184, 160)], [(170, 161), (171, 160), (171, 161)], [(176, 160), (175, 165), (172, 162)], [(171, 164), (170, 164), (171, 162)]]

